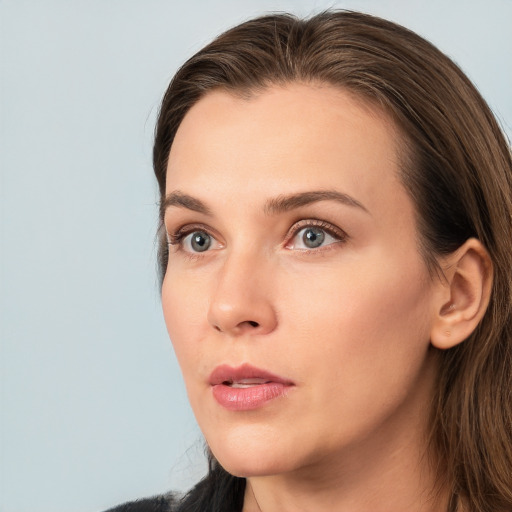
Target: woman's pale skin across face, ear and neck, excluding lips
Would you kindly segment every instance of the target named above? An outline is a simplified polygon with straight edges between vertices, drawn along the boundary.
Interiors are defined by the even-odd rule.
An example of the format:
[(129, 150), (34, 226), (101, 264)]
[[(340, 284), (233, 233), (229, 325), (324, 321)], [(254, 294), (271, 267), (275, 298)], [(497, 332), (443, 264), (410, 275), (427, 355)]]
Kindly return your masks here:
[[(164, 316), (208, 445), (247, 478), (244, 512), (446, 508), (426, 452), (432, 345), (476, 327), (491, 266), (470, 239), (445, 279), (429, 275), (399, 140), (383, 112), (320, 84), (210, 92), (178, 129)], [(293, 386), (226, 410), (209, 375), (244, 363)]]

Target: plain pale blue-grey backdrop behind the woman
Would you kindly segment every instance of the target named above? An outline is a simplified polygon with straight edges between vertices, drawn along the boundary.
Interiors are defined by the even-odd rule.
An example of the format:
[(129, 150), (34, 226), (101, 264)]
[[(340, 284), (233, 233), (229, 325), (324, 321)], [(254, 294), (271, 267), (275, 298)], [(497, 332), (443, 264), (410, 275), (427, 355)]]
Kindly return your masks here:
[(402, 23), (512, 134), (512, 0), (0, 0), (0, 511), (184, 490), (203, 445), (161, 317), (153, 126), (174, 71), (267, 11)]

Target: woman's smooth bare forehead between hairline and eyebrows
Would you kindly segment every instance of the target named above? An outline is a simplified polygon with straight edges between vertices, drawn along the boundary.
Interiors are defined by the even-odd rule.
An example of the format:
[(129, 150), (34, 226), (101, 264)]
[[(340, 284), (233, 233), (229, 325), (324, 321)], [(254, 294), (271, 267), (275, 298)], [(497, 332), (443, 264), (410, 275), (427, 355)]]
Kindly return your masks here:
[(187, 113), (168, 161), (167, 192), (227, 187), (332, 188), (361, 198), (398, 184), (399, 137), (375, 105), (329, 85), (273, 86), (249, 97), (208, 93)]

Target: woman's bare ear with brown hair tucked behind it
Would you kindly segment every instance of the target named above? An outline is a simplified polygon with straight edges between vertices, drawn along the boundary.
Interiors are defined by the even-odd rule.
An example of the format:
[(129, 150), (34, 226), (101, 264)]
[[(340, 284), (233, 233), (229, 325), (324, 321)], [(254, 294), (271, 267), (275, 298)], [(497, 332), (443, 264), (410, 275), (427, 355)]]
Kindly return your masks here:
[(441, 262), (432, 345), (447, 349), (463, 342), (483, 318), (491, 296), (493, 269), (482, 243), (470, 238)]

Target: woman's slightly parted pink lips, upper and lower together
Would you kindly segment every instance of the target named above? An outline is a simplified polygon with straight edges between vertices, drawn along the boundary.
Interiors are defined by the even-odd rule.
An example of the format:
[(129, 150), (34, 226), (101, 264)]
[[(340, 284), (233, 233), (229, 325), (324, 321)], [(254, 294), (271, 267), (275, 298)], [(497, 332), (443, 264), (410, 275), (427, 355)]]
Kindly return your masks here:
[[(243, 381), (249, 379), (260, 379), (263, 382), (250, 387), (231, 386), (233, 383), (243, 384)], [(294, 385), (288, 379), (249, 364), (237, 368), (227, 365), (218, 366), (210, 375), (209, 383), (215, 400), (230, 411), (257, 409), (274, 398), (284, 396)]]

